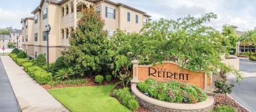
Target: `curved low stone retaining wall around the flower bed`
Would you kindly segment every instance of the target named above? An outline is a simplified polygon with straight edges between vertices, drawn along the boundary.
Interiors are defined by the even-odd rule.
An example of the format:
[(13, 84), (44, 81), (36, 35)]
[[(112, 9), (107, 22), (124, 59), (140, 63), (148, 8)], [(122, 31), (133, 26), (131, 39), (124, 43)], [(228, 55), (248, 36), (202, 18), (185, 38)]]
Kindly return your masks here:
[(196, 104), (168, 103), (142, 94), (136, 86), (136, 84), (132, 85), (132, 93), (143, 107), (152, 112), (210, 112), (213, 109), (214, 99), (212, 96), (208, 96), (206, 101)]

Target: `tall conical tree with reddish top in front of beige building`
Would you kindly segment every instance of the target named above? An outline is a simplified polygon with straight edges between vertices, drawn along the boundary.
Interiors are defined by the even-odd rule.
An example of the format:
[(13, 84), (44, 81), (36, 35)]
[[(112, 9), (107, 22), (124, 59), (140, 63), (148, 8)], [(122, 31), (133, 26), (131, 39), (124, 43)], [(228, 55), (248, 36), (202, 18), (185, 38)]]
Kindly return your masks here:
[(95, 9), (83, 10), (76, 30), (70, 33), (70, 47), (64, 52), (76, 74), (101, 72), (108, 64), (107, 32), (103, 28), (104, 20), (97, 16)]

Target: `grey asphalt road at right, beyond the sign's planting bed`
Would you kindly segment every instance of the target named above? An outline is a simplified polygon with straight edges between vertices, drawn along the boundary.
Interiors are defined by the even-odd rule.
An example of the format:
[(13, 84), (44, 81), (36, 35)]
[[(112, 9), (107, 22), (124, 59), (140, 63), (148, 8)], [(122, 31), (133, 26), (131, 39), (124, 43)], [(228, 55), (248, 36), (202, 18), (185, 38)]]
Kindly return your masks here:
[[(240, 58), (239, 69), (242, 72), (256, 74), (256, 63)], [(231, 78), (230, 80), (236, 82), (236, 78)], [(256, 77), (243, 78), (240, 85), (236, 84), (230, 95), (249, 111), (256, 112)]]

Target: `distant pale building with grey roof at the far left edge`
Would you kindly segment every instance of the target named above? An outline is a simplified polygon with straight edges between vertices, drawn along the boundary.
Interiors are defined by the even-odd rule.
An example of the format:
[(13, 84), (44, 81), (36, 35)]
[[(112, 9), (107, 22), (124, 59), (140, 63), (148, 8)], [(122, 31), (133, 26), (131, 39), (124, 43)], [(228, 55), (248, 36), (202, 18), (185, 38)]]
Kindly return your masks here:
[(21, 49), (22, 48), (22, 43), (21, 43), (22, 30), (20, 29), (10, 29), (9, 35), (0, 35), (0, 47), (8, 48), (7, 45), (9, 42), (17, 43), (17, 38), (16, 38), (17, 36), (19, 36), (18, 47)]

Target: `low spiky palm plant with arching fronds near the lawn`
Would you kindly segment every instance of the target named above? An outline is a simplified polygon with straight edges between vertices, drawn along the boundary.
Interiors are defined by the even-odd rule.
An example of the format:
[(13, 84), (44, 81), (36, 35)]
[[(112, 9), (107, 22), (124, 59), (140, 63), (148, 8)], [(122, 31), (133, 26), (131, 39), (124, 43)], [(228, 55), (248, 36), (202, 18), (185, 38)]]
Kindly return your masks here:
[(57, 75), (55, 75), (55, 77), (57, 79), (65, 80), (65, 79), (68, 79), (71, 75), (73, 74), (69, 69), (62, 68), (58, 70)]

